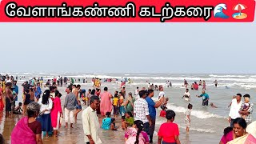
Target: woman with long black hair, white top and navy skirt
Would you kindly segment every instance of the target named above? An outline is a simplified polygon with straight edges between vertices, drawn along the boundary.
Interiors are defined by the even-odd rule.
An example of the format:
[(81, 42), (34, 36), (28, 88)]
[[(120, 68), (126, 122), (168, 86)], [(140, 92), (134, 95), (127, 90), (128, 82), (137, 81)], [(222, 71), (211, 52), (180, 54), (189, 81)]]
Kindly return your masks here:
[(53, 101), (50, 98), (50, 90), (45, 90), (42, 98), (39, 98), (38, 103), (41, 105), (40, 117), (38, 120), (42, 124), (42, 131), (46, 131), (46, 137), (48, 137), (48, 132), (52, 131), (50, 110), (53, 107)]

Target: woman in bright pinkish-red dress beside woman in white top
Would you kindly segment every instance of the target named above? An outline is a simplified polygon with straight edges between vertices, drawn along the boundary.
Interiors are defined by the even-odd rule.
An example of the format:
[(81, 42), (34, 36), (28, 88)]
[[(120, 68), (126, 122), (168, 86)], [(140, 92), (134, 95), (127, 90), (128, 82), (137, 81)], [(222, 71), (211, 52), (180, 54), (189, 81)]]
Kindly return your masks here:
[(63, 118), (62, 114), (62, 104), (61, 104), (62, 94), (58, 90), (55, 91), (54, 105), (50, 110), (51, 126), (54, 128), (54, 137), (57, 137), (58, 128), (60, 127), (60, 118)]

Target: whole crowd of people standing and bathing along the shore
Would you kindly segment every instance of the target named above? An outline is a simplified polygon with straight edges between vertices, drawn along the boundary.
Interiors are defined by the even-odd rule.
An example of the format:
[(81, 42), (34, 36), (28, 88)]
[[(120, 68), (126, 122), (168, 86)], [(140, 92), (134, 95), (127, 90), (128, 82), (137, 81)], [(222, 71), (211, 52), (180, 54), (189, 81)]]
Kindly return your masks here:
[[(120, 90), (112, 95), (107, 87), (101, 91), (100, 79), (94, 79), (94, 89), (81, 89), (80, 85), (71, 83), (66, 88), (66, 96), (62, 105), (62, 94), (58, 91), (58, 86), (62, 86), (62, 77), (55, 78), (46, 82), (46, 90), (42, 93), (42, 78), (32, 78), (30, 82), (22, 84), (22, 102), (15, 105), (18, 96), (17, 79), (6, 76), (2, 78), (0, 86), (0, 111), (6, 109), (6, 118), (12, 114), (23, 114), (11, 134), (12, 143), (42, 143), (42, 134), (46, 137), (52, 135), (58, 137), (60, 126), (66, 128), (70, 122), (70, 128), (74, 127), (74, 120), (78, 113), (82, 111), (82, 102), (87, 106), (82, 111), (82, 126), (85, 134), (86, 144), (102, 143), (99, 138), (98, 130), (124, 130), (126, 144), (152, 143), (154, 139), (154, 130), (157, 115), (157, 109), (160, 107), (160, 117), (166, 118), (158, 130), (158, 144), (181, 143), (179, 140), (178, 125), (174, 123), (175, 112), (167, 108), (169, 98), (163, 90), (163, 86), (158, 86), (158, 100), (154, 102), (154, 86), (148, 89), (142, 87), (136, 88), (134, 93), (126, 94), (126, 82), (121, 82)], [(86, 79), (87, 80), (87, 79)], [(98, 81), (98, 82), (97, 82)], [(67, 82), (67, 81), (66, 81)], [(66, 85), (65, 82), (65, 85)], [(205, 82), (199, 82), (198, 86), (203, 86)], [(187, 82), (186, 82), (187, 84)], [(194, 82), (194, 84), (197, 84)], [(206, 87), (202, 88), (202, 106), (208, 106), (209, 95), (206, 94)], [(237, 94), (230, 103), (230, 126), (224, 130), (224, 135), (220, 141), (221, 144), (244, 140), (246, 142), (256, 142), (256, 139), (246, 126), (252, 123), (253, 103), (250, 102), (250, 95), (245, 94), (242, 102), (242, 94)], [(189, 89), (183, 96), (185, 100), (190, 99)], [(5, 100), (5, 102), (3, 101)], [(63, 106), (63, 107), (62, 107)], [(217, 108), (214, 104), (210, 106)], [(63, 109), (62, 109), (63, 108)], [(184, 113), (184, 125), (186, 132), (190, 132), (190, 114), (193, 108), (188, 104)], [(98, 122), (98, 114), (102, 115), (102, 125)], [(116, 125), (117, 118), (121, 118), (120, 126)], [(44, 133), (42, 133), (44, 132)], [(22, 135), (26, 134), (26, 138)]]

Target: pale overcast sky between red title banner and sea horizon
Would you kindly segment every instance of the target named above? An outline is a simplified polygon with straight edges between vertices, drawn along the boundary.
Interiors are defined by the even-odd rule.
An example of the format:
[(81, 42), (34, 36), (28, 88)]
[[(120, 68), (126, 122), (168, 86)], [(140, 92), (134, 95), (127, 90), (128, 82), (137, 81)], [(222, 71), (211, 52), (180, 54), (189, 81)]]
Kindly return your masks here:
[(252, 23), (0, 23), (0, 72), (254, 73)]

